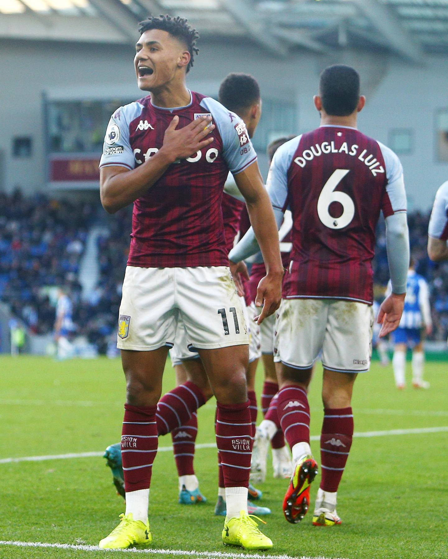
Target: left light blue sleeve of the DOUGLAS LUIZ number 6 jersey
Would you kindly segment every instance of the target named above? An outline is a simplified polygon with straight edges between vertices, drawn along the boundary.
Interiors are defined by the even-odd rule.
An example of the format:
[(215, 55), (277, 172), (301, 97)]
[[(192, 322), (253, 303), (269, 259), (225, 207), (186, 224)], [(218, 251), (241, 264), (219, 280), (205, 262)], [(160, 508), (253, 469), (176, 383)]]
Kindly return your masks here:
[(296, 149), (300, 143), (300, 136), (285, 142), (275, 152), (272, 158), (271, 167), (267, 175), (267, 192), (271, 198), (272, 207), (285, 211), (285, 204), (288, 195), (288, 170)]

